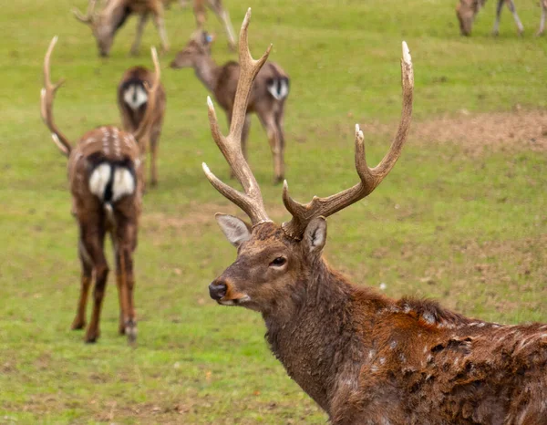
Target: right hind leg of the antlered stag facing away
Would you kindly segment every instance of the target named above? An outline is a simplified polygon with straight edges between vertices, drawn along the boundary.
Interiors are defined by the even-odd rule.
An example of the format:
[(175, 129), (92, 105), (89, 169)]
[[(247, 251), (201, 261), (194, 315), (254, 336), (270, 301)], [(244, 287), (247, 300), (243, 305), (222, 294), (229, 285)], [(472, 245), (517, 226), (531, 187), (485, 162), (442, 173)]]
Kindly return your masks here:
[(116, 235), (116, 275), (119, 288), (119, 333), (128, 336), (129, 343), (137, 339), (133, 275), (133, 252), (137, 246), (137, 226), (124, 221), (119, 223)]

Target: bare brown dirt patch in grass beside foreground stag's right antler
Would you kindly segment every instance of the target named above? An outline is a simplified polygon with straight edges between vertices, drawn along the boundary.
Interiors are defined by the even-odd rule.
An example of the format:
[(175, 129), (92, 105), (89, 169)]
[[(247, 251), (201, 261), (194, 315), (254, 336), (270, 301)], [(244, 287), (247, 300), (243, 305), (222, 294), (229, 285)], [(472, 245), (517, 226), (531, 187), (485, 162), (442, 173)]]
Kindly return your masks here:
[[(367, 132), (391, 133), (393, 126), (369, 124)], [(466, 154), (485, 150), (547, 151), (547, 111), (522, 110), (471, 114), (466, 110), (412, 123), (409, 140), (422, 143), (457, 143)]]

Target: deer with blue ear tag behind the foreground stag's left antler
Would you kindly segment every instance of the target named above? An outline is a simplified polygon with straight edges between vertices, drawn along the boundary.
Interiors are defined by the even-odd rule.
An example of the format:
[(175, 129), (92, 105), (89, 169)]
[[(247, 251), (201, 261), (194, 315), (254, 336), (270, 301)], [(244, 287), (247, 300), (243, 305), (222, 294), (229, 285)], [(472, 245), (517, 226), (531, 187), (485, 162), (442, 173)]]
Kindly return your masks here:
[[(240, 65), (227, 62), (218, 66), (211, 57), (214, 37), (204, 31), (197, 31), (187, 46), (177, 54), (170, 67), (193, 67), (196, 76), (214, 95), (226, 112), (228, 123), (232, 121), (235, 107), (235, 92), (240, 76)], [(274, 182), (284, 179), (284, 102), (289, 94), (289, 77), (282, 67), (269, 63), (263, 67), (250, 93), (243, 126), (243, 155), (247, 158), (247, 137), (251, 127), (251, 113), (256, 113), (266, 130), (270, 149), (274, 157)]]

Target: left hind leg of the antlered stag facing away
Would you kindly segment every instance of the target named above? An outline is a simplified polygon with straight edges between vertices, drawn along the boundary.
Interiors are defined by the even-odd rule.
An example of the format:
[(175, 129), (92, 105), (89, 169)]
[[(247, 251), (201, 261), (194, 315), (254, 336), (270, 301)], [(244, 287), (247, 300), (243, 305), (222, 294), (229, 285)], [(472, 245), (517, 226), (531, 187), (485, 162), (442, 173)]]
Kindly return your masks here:
[(95, 229), (85, 233), (84, 247), (95, 265), (95, 288), (93, 289), (93, 313), (86, 333), (86, 342), (96, 342), (99, 335), (100, 311), (107, 286), (108, 264), (104, 253), (104, 231)]

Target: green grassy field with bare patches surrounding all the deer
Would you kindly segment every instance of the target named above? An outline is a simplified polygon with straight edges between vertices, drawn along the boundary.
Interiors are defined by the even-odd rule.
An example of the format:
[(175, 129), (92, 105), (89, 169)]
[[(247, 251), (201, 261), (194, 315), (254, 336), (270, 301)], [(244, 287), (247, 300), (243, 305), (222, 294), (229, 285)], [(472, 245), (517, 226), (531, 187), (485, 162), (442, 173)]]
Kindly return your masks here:
[[(401, 160), (365, 201), (329, 219), (326, 257), (361, 285), (387, 295), (438, 298), (470, 316), (547, 321), (547, 39), (540, 8), (507, 10), (490, 36), (494, 2), (474, 34), (459, 36), (455, 1), (226, 0), (239, 28), (253, 6), (251, 47), (292, 78), (287, 179), (299, 200), (356, 181), (353, 126), (366, 130), (369, 162), (387, 150), (400, 111), (398, 60), (407, 40), (416, 75), (415, 123)], [(325, 423), (263, 340), (259, 315), (216, 306), (207, 285), (235, 252), (213, 213), (237, 213), (201, 171), (227, 166), (212, 142), (206, 91), (186, 69), (165, 69), (168, 112), (160, 185), (146, 194), (136, 254), (138, 347), (117, 335), (111, 276), (102, 336), (70, 332), (79, 290), (77, 227), (66, 160), (39, 119), (41, 65), (59, 36), (56, 118), (72, 138), (119, 123), (115, 93), (129, 66), (150, 66), (159, 44), (148, 26), (129, 57), (130, 20), (108, 59), (71, 16), (83, 0), (19, 0), (0, 28), (0, 423)], [(169, 63), (193, 30), (189, 9), (167, 14)], [(222, 28), (214, 56), (233, 59)], [(222, 113), (222, 112), (221, 112)], [(442, 135), (442, 137), (441, 137)], [(251, 162), (268, 210), (287, 219), (270, 153), (253, 120)], [(108, 248), (108, 251), (109, 248)]]

